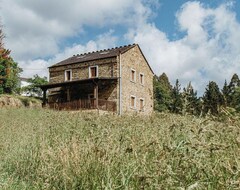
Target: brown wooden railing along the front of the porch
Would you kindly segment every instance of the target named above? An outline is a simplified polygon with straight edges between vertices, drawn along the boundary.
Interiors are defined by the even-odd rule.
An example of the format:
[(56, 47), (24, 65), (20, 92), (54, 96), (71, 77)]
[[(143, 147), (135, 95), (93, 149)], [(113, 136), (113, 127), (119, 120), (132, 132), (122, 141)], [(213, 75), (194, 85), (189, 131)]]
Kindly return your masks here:
[[(98, 106), (97, 106), (98, 105)], [(55, 102), (48, 103), (51, 109), (56, 110), (89, 110), (89, 109), (100, 109), (104, 111), (117, 111), (117, 103), (108, 100), (97, 100), (96, 99), (79, 99), (70, 102)]]

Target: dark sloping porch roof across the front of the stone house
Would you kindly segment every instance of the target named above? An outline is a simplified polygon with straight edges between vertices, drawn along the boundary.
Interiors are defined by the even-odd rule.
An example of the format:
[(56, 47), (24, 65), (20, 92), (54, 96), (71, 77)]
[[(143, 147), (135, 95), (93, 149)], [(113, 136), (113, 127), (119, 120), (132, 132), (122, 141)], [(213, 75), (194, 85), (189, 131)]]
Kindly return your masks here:
[(97, 77), (97, 78), (88, 78), (88, 79), (82, 79), (82, 80), (73, 80), (73, 81), (65, 81), (61, 83), (50, 83), (45, 85), (39, 85), (38, 87), (42, 90), (48, 90), (51, 88), (57, 88), (57, 87), (65, 87), (65, 86), (72, 86), (77, 84), (88, 84), (93, 83), (96, 84), (98, 82), (111, 82), (111, 81), (117, 81), (118, 77)]

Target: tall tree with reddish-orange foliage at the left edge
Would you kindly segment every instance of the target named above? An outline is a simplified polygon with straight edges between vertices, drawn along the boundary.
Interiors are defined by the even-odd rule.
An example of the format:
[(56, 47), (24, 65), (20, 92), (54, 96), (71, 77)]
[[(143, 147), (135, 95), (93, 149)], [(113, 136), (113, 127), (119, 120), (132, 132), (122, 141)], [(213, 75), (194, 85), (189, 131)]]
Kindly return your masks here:
[(3, 47), (3, 38), (4, 34), (0, 26), (0, 94), (12, 94), (19, 90), (19, 75), (22, 69), (11, 58), (11, 51)]

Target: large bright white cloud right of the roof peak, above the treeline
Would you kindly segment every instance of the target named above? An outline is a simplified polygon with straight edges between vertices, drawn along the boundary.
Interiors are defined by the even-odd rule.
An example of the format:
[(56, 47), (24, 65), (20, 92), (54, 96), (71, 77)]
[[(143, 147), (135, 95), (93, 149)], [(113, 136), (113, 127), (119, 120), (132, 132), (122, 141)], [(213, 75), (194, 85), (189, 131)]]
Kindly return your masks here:
[[(186, 35), (170, 41), (154, 24), (145, 23), (125, 36), (139, 43), (157, 75), (189, 81), (202, 93), (210, 80), (223, 84), (240, 69), (240, 24), (228, 4), (207, 8), (187, 2), (176, 14)], [(172, 81), (174, 82), (174, 81)]]

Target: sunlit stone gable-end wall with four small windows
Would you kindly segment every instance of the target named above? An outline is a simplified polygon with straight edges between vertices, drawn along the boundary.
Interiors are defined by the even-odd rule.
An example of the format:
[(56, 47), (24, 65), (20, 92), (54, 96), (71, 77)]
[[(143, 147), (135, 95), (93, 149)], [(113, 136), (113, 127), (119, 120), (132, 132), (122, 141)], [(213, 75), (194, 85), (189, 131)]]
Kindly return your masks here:
[[(121, 55), (122, 65), (122, 111), (150, 114), (153, 111), (153, 73), (150, 70), (138, 46)], [(136, 80), (131, 80), (131, 70), (135, 70)], [(140, 73), (144, 83), (140, 83)], [(135, 97), (136, 106), (131, 107), (131, 96)], [(144, 109), (140, 110), (140, 99), (144, 100)]]

